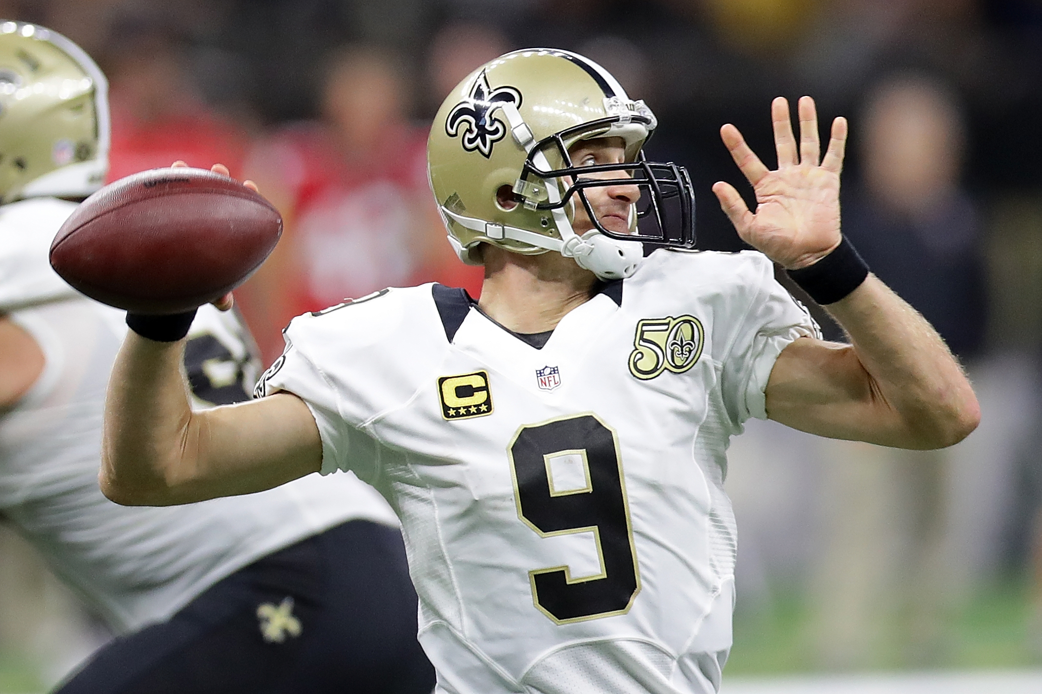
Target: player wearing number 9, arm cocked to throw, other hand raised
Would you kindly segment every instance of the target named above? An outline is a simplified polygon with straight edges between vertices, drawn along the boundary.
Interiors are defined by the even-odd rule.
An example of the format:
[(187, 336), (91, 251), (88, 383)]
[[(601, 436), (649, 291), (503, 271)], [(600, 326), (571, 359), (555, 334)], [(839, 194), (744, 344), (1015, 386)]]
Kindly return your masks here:
[[(821, 158), (810, 98), (799, 140), (785, 100), (772, 120), (776, 171), (721, 131), (756, 211), (714, 187), (758, 250), (693, 252), (691, 184), (645, 161), (644, 103), (574, 53), (486, 63), (428, 145), (449, 239), (485, 266), (480, 300), (392, 288), (295, 318), (262, 397), (199, 413), (183, 340), (162, 334), (177, 318), (129, 316), (104, 492), (178, 504), (351, 469), (402, 521), (438, 692), (718, 691), (725, 452), (743, 421), (929, 448), (979, 417), (937, 333), (843, 240), (846, 122)], [(850, 344), (817, 337), (772, 260)], [(180, 445), (202, 428), (205, 448)]]

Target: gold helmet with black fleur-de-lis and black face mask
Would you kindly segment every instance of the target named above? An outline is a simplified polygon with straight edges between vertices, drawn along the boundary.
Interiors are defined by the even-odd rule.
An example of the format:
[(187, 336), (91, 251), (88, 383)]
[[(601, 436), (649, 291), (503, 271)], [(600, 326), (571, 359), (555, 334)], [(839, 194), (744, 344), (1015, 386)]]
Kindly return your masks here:
[[(640, 241), (691, 248), (694, 194), (688, 172), (648, 162), (642, 147), (656, 121), (594, 61), (556, 49), (514, 51), (471, 73), (435, 118), (427, 143), (430, 186), (460, 258), (479, 264), (478, 243), (515, 253), (556, 251), (603, 279), (628, 277), (643, 257)], [(568, 149), (580, 139), (622, 137), (626, 164), (574, 168)], [(584, 178), (625, 171), (632, 178)], [(566, 178), (567, 177), (567, 178)], [(637, 185), (629, 234), (605, 229), (584, 190)], [(497, 202), (502, 186), (520, 203)], [(579, 238), (574, 206), (595, 228)]]

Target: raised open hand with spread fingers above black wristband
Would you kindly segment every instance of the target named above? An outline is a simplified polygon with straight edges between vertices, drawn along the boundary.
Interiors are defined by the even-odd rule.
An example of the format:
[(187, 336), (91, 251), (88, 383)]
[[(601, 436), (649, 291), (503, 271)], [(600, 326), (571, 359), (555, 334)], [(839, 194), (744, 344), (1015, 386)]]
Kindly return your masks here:
[(720, 137), (735, 163), (752, 184), (756, 211), (752, 213), (735, 186), (713, 185), (720, 207), (738, 235), (787, 269), (812, 265), (828, 255), (841, 240), (840, 171), (846, 147), (847, 122), (833, 121), (828, 150), (819, 164), (818, 114), (814, 99), (799, 100), (799, 150), (792, 132), (789, 102), (771, 103), (774, 147), (778, 168), (770, 171), (753, 153), (734, 125), (720, 129)]

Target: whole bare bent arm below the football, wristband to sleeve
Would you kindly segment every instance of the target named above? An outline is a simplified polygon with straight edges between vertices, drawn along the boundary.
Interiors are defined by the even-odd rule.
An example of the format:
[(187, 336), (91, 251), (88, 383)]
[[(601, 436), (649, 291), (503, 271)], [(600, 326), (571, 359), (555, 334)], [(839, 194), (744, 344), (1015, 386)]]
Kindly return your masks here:
[(317, 471), (322, 441), (296, 395), (193, 412), (183, 342), (127, 336), (108, 385), (99, 482), (118, 504), (167, 506), (271, 489)]

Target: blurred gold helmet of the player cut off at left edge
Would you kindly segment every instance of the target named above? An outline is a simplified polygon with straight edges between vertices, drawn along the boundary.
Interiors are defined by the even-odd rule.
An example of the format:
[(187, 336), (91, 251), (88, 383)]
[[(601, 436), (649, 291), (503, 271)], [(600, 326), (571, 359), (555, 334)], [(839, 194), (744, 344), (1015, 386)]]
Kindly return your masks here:
[(108, 169), (108, 83), (74, 43), (0, 20), (0, 203), (85, 197)]

